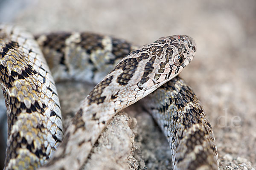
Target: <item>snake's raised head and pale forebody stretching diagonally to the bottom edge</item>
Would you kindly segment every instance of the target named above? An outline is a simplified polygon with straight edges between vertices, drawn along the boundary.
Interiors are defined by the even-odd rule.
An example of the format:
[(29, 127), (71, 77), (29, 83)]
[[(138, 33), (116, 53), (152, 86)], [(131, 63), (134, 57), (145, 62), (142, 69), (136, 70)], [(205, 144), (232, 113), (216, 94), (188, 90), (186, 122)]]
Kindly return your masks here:
[(128, 54), (82, 102), (62, 145), (42, 169), (79, 169), (108, 121), (177, 76), (194, 54), (195, 42), (181, 35), (162, 37)]

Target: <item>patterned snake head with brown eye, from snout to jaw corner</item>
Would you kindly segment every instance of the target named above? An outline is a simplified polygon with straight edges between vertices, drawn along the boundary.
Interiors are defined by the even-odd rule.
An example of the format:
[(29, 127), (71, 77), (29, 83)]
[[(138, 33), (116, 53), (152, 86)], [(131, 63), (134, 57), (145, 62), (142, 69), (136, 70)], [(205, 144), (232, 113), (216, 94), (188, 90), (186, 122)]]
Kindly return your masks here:
[(138, 53), (145, 63), (138, 86), (154, 89), (177, 76), (194, 58), (195, 41), (186, 35), (161, 37), (155, 42), (144, 45)]

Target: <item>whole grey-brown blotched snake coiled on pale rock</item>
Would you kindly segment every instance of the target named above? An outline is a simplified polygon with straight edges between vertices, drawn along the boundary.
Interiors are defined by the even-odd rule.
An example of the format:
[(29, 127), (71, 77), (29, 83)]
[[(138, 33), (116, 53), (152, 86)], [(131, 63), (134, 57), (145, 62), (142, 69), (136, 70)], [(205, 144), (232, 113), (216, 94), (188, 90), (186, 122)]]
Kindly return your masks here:
[[(0, 85), (8, 117), (4, 169), (81, 169), (111, 118), (142, 99), (169, 142), (174, 170), (217, 170), (212, 127), (178, 76), (195, 52), (195, 41), (186, 35), (139, 47), (87, 32), (33, 36), (1, 24)], [(65, 133), (55, 87), (63, 80), (96, 84)]]

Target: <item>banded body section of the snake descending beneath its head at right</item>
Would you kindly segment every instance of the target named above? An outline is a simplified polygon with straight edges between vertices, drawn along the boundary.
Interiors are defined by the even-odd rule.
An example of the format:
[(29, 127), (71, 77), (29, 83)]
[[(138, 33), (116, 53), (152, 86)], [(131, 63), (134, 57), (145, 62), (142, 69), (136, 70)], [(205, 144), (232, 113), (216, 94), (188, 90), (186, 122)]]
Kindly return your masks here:
[(217, 170), (212, 127), (202, 106), (183, 79), (175, 77), (142, 101), (163, 130), (175, 170)]

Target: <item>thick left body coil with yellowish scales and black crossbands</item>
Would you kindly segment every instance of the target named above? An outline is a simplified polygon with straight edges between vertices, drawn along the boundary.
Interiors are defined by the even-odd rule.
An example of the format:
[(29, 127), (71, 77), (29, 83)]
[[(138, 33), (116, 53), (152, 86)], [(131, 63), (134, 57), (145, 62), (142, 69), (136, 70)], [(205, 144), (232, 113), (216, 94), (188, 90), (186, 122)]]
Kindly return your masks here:
[(0, 26), (0, 70), (8, 117), (5, 169), (35, 169), (60, 144), (62, 121), (46, 61), (22, 28)]

